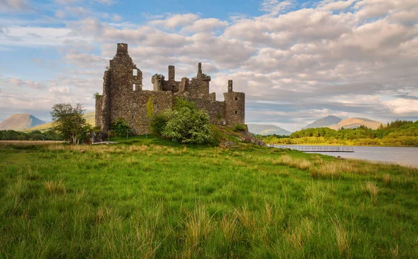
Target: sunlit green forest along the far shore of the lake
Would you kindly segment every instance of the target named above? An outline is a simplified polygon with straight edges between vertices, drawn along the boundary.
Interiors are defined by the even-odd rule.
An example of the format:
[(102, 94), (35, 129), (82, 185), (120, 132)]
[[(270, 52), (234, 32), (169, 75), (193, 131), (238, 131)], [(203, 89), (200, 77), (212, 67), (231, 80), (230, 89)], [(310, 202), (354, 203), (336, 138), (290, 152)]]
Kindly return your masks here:
[(328, 127), (310, 128), (293, 132), (290, 137), (273, 135), (261, 137), (265, 143), (281, 144), (340, 144), (340, 145), (382, 145), (418, 146), (418, 120), (395, 120), (380, 125), (376, 130), (366, 126), (357, 129), (331, 130)]

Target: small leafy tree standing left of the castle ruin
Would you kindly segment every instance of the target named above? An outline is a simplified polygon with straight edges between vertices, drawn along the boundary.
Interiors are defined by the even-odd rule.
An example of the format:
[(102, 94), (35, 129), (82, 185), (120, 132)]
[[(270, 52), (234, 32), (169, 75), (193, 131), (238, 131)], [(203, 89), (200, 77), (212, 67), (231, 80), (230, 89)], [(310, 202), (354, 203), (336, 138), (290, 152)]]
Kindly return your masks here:
[(82, 104), (76, 104), (75, 107), (69, 103), (54, 104), (51, 115), (54, 130), (61, 132), (63, 139), (70, 143), (78, 144), (83, 136), (86, 136), (86, 131), (91, 129), (83, 117)]

